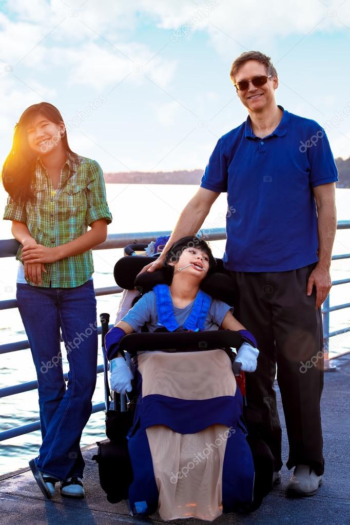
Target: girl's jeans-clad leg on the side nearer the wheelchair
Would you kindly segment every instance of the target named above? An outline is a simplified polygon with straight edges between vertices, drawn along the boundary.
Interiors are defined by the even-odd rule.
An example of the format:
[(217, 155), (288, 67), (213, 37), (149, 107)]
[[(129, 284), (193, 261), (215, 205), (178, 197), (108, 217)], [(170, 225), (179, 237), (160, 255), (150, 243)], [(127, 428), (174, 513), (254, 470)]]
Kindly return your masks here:
[(84, 461), (79, 443), (91, 414), (98, 338), (92, 281), (77, 288), (57, 289), (57, 296), (69, 362), (68, 384), (41, 446), (45, 455), (38, 468), (65, 480), (83, 475)]

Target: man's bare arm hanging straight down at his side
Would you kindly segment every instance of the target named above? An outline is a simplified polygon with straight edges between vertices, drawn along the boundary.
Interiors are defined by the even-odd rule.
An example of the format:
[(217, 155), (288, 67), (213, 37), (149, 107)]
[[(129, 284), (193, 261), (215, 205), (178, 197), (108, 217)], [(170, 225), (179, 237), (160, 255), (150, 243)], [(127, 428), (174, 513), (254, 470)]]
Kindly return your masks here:
[(317, 207), (317, 230), (319, 234), (319, 262), (307, 281), (306, 293), (316, 287), (316, 309), (326, 299), (332, 280), (330, 275), (332, 247), (336, 232), (335, 183), (322, 184), (313, 188)]

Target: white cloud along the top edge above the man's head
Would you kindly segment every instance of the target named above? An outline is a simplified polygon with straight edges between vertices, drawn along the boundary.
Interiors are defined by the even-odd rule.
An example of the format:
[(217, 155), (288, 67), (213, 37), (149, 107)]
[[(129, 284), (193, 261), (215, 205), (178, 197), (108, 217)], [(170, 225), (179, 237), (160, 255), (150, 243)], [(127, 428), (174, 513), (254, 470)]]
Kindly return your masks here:
[(332, 32), (344, 29), (342, 23), (350, 22), (350, 10), (337, 0), (328, 0), (327, 5), (320, 0), (292, 0), (288, 4), (280, 0), (239, 4), (227, 0), (200, 0), (196, 4), (186, 0), (139, 0), (135, 4), (152, 14), (158, 27), (182, 31), (183, 36), (191, 31), (208, 31), (211, 43), (225, 57), (250, 50), (251, 43), (266, 49), (278, 37)]

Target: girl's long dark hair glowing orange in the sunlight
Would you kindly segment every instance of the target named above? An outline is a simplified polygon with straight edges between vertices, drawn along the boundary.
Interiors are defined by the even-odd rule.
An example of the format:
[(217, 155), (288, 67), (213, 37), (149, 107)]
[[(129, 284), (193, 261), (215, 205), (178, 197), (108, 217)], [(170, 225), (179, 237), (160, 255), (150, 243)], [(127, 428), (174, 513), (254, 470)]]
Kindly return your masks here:
[[(29, 148), (27, 128), (38, 114), (43, 115), (43, 117), (55, 124), (63, 122), (61, 113), (48, 102), (33, 104), (21, 115), (18, 123), (15, 125), (12, 148), (7, 155), (2, 171), (4, 188), (14, 201), (26, 202), (33, 197), (30, 183), (38, 154)], [(66, 151), (74, 154), (68, 145), (66, 129), (61, 140)]]

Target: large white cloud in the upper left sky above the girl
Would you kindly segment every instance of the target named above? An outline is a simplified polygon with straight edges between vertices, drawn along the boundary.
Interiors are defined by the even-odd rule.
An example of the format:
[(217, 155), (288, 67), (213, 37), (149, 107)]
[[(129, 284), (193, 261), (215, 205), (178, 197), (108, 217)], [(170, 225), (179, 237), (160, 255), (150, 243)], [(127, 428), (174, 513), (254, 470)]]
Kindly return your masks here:
[(125, 32), (125, 23), (136, 16), (129, 4), (105, 0), (98, 6), (87, 3), (81, 13), (77, 11), (78, 16), (69, 16), (75, 11), (67, 10), (62, 2), (35, 0), (33, 10), (29, 5), (15, 0), (9, 5), (10, 17), (0, 14), (0, 48), (5, 50), (2, 58), (20, 78), (26, 76), (24, 69), (30, 69), (30, 76), (35, 78), (43, 68), (57, 66), (67, 71), (68, 85), (98, 90), (129, 74), (128, 81), (140, 83), (142, 75), (137, 72), (163, 88), (172, 80), (176, 60), (156, 56), (159, 49), (128, 41), (118, 31), (120, 26)]

